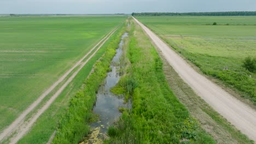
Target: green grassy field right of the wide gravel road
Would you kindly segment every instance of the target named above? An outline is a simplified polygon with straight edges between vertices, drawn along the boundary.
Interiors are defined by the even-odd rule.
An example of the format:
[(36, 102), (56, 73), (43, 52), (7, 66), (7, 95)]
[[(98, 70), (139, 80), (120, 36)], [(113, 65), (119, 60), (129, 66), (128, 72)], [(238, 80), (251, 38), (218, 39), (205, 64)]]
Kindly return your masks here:
[[(256, 16), (136, 18), (203, 73), (221, 80), (256, 104), (256, 74), (242, 68), (247, 56), (256, 57)], [(213, 26), (213, 22), (217, 25)]]

